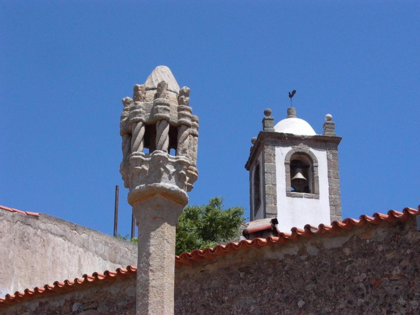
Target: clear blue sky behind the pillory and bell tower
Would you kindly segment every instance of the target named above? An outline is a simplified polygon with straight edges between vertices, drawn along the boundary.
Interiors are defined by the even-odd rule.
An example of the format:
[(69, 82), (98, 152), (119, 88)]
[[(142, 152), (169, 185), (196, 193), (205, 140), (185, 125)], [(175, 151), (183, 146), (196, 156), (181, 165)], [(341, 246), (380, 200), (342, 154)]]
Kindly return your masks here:
[(200, 118), (190, 204), (249, 209), (250, 139), (296, 89), (298, 117), (321, 133), (331, 113), (343, 137), (344, 217), (417, 207), (419, 13), (415, 1), (1, 1), (0, 204), (111, 234), (120, 185), (128, 234), (121, 98), (166, 65)]

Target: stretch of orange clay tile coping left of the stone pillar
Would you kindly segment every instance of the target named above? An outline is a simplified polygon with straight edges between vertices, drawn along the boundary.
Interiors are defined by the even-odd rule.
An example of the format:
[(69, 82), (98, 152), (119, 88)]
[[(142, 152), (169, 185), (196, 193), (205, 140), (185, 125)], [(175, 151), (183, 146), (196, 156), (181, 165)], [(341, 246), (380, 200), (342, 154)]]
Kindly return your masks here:
[(113, 282), (115, 279), (125, 279), (136, 274), (137, 267), (127, 266), (127, 269), (118, 268), (115, 271), (105, 270), (104, 273), (92, 273), (92, 275), (84, 274), (82, 278), (76, 278), (74, 281), (64, 280), (63, 282), (55, 281), (53, 285), (46, 284), (43, 287), (36, 287), (33, 290), (25, 289), (24, 292), (16, 291), (15, 294), (6, 294), (0, 297), (0, 307), (14, 302), (21, 302), (24, 299), (33, 299), (37, 297), (45, 297), (50, 293), (66, 293), (68, 291), (86, 286), (88, 283)]

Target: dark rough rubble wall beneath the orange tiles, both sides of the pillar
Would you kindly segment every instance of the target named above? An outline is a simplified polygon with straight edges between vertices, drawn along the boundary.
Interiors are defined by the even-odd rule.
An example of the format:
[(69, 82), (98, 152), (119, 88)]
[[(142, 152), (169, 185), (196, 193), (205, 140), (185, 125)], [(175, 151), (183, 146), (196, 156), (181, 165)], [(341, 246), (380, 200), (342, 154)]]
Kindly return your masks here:
[[(176, 268), (175, 314), (420, 313), (415, 219)], [(9, 315), (134, 315), (134, 278), (0, 308)]]

